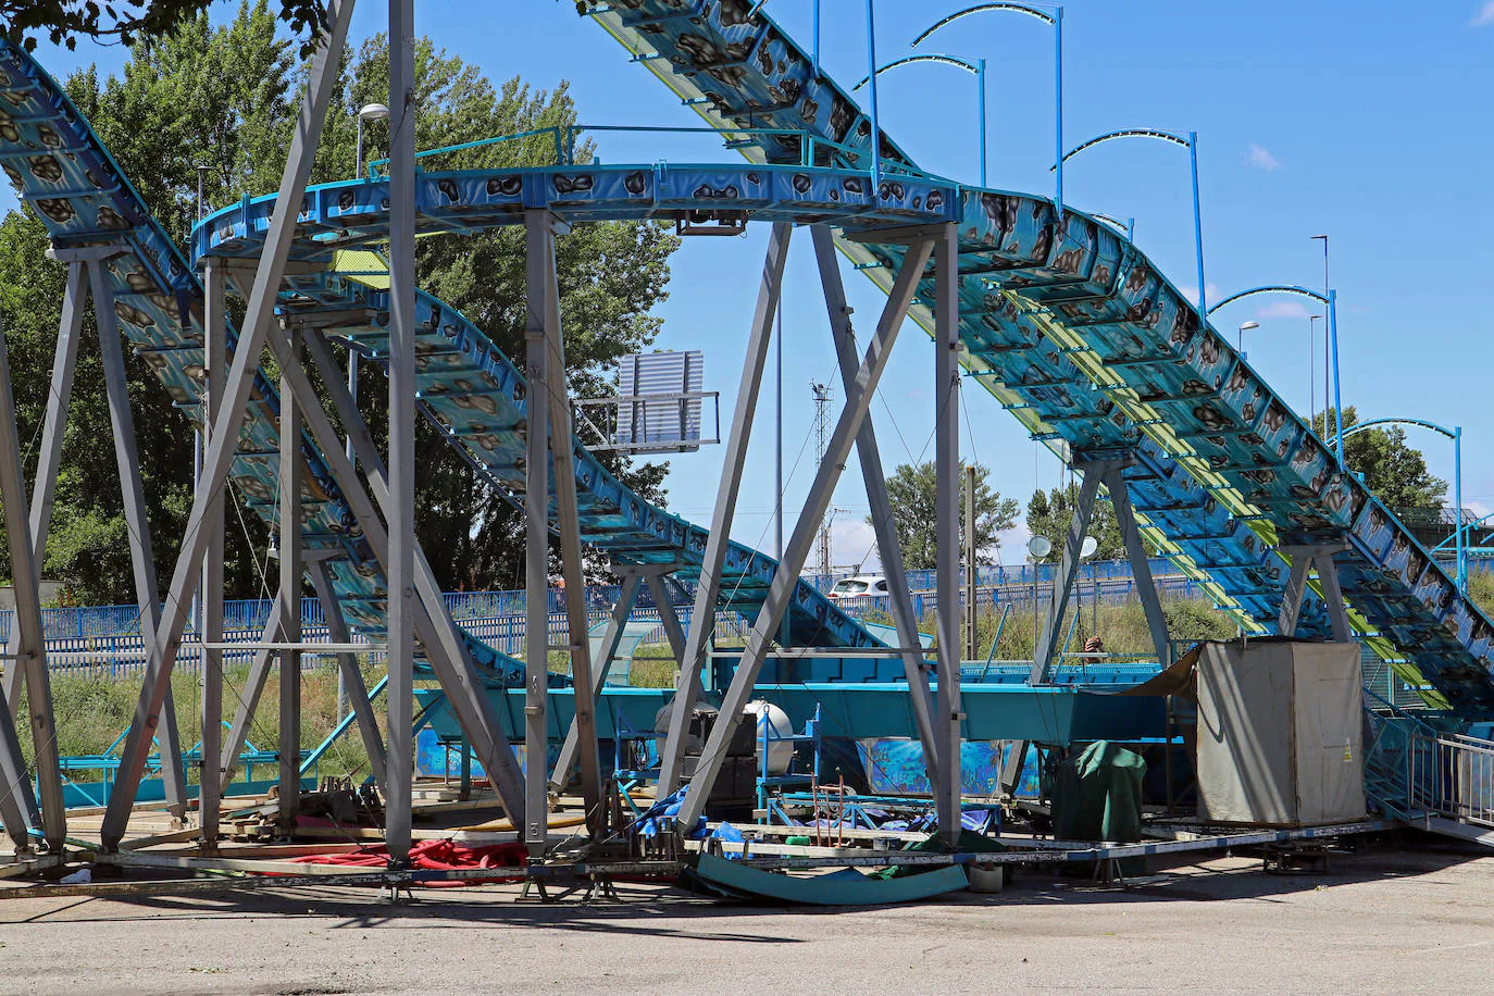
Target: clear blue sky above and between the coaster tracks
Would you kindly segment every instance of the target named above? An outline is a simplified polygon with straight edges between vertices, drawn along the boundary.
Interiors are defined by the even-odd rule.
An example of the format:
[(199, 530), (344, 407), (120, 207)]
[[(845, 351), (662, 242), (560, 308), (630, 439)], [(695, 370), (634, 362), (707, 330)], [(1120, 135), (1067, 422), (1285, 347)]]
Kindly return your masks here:
[[(822, 61), (849, 87), (867, 66), (862, 1), (823, 4)], [(878, 58), (908, 54), (925, 25), (962, 6), (881, 0)], [(769, 0), (768, 10), (808, 43), (807, 0)], [(384, 16), (384, 4), (360, 4), (354, 37), (381, 30)], [(495, 79), (518, 75), (536, 87), (571, 81), (583, 122), (698, 122), (650, 73), (629, 64), (611, 37), (577, 16), (572, 3), (423, 0), (417, 27)], [(1050, 193), (1049, 28), (983, 15), (946, 28), (920, 46), (926, 49), (988, 60), (991, 185)], [(1366, 418), (1461, 424), (1464, 503), (1494, 509), (1494, 414), (1479, 387), (1487, 379), (1481, 346), (1494, 326), (1481, 290), (1494, 272), (1494, 1), (1074, 0), (1065, 4), (1064, 49), (1068, 146), (1122, 127), (1198, 131), (1210, 300), (1258, 284), (1321, 285), (1322, 249), (1310, 237), (1331, 236), (1345, 403)], [(88, 61), (114, 72), (123, 57), (118, 48), (88, 43), (78, 52), (40, 52), (58, 76)], [(943, 66), (899, 69), (883, 78), (880, 105), (883, 127), (925, 169), (977, 179), (968, 76)], [(613, 134), (599, 136), (599, 152), (608, 161), (639, 163), (732, 155), (705, 139)], [(1134, 217), (1141, 248), (1179, 287), (1197, 284), (1185, 149), (1106, 145), (1073, 160), (1065, 184), (1074, 206)], [(6, 188), (0, 209), (13, 203)], [(766, 228), (741, 239), (689, 240), (674, 257), (671, 299), (659, 311), (659, 346), (705, 349), (707, 388), (722, 391), (728, 424), (765, 240)], [(807, 237), (795, 240), (789, 267), (783, 439), (792, 529), (813, 478), (813, 443), (805, 445), (810, 382), (832, 378), (835, 367)], [(853, 272), (846, 281), (859, 321), (870, 324), (881, 296)], [(1261, 324), (1246, 333), (1249, 358), (1298, 411), (1306, 411), (1309, 393), (1307, 314), (1294, 299), (1255, 299), (1215, 315), (1221, 329)], [(1321, 348), (1319, 332), (1319, 355)], [(872, 406), (889, 469), (917, 457), (929, 439), (932, 366), (928, 337), (908, 324)], [(734, 529), (737, 539), (765, 547), (772, 542), (774, 505), (771, 391), (769, 379)], [(1038, 454), (994, 399), (980, 390), (965, 396), (964, 451), (991, 466), (1002, 494), (1025, 503), (1035, 484), (1059, 481), (1058, 463)], [(1412, 441), (1425, 448), (1433, 470), (1451, 479), (1451, 443), (1419, 433)], [(674, 458), (674, 511), (710, 521), (722, 449)], [(834, 529), (835, 561), (856, 563), (871, 536), (855, 461), (835, 505), (844, 509)], [(1020, 529), (1008, 535), (1005, 560), (1020, 558), (1023, 539)]]

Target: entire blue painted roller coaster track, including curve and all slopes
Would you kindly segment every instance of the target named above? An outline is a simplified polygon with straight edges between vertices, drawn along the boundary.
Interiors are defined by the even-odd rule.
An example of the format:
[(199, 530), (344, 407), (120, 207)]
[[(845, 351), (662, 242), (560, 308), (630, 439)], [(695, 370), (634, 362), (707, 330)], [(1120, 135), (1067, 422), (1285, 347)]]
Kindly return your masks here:
[[(1346, 539), (1336, 555), (1351, 621), (1400, 673), (1427, 682), (1437, 705), (1494, 715), (1494, 626), (1395, 517), (1270, 390), (1146, 255), (1092, 215), (1050, 200), (980, 190), (920, 172), (878, 136), (880, 185), (870, 182), (871, 122), (844, 90), (769, 18), (744, 3), (623, 0), (593, 18), (687, 106), (722, 131), (746, 163), (572, 163), (421, 173), (423, 231), (518, 224), (544, 208), (568, 222), (605, 218), (795, 221), (843, 233), (956, 222), (961, 332), (967, 372), (1035, 439), (1065, 460), (1126, 452), (1125, 478), (1153, 544), (1242, 624), (1268, 632), (1289, 570), (1279, 547)], [(121, 327), (190, 420), (202, 393), (200, 287), (118, 166), (55, 82), (0, 43), (0, 163), (43, 218), (55, 245), (117, 242), (108, 270)], [(193, 234), (194, 255), (258, 255), (272, 199), (218, 211)], [(293, 257), (387, 236), (384, 181), (359, 178), (308, 191)], [(841, 242), (858, 269), (887, 288), (902, 249)], [(333, 269), (287, 278), (288, 314), (365, 314), (335, 329), (381, 360), (385, 294)], [(421, 296), (420, 402), (474, 467), (521, 500), (524, 384), (466, 318)], [(910, 312), (932, 329), (932, 281)], [(273, 521), (278, 402), (260, 376), (233, 478)], [(330, 550), (338, 597), (368, 630), (384, 624), (384, 578), (314, 443), (308, 460), (308, 550)], [(629, 493), (575, 442), (583, 536), (622, 561), (678, 563), (689, 575), (704, 530)], [(515, 490), (518, 488), (518, 490)], [(723, 591), (751, 617), (774, 561), (732, 548)], [(874, 636), (801, 584), (790, 617), (798, 645), (871, 647)], [(496, 681), (517, 662), (474, 641)]]

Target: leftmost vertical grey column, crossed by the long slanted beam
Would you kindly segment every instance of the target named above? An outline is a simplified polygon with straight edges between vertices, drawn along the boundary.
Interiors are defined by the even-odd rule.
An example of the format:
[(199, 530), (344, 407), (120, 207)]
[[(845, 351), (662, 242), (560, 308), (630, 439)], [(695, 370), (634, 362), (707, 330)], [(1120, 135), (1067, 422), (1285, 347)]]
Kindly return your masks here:
[[(227, 373), (229, 312), (226, 300), (226, 273), (223, 266), (208, 257), (203, 263), (203, 373), (206, 391), (199, 408), (203, 424), (203, 446), (211, 439), (212, 424), (218, 418), (218, 400), (223, 396), (223, 381)], [(203, 529), (208, 530), (208, 548), (202, 558), (203, 606), (202, 642), (223, 642), (223, 508), (224, 490), (212, 496)], [(218, 823), (223, 812), (223, 787), (227, 772), (223, 769), (223, 651), (211, 647), (202, 656), (202, 760), (197, 766), (197, 824), (202, 829), (205, 854), (218, 848)]]

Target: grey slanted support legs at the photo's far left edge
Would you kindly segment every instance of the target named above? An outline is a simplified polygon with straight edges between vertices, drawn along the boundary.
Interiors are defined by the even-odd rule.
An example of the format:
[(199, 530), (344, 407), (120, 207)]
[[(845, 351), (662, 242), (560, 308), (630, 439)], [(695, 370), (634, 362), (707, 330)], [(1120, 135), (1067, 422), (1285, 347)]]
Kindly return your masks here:
[[(0, 329), (0, 503), (13, 515), (10, 521), (15, 529), (6, 530), (6, 545), (10, 553), (10, 578), (15, 590), (15, 615), (12, 626), (16, 630), (16, 659), (7, 660), (6, 667), (16, 667), (25, 673), (27, 717), (31, 726), (31, 747), (36, 757), (36, 779), (42, 796), (42, 826), (46, 847), (54, 853), (61, 853), (63, 841), (67, 836), (67, 803), (63, 799), (63, 769), (57, 756), (57, 730), (52, 715), (52, 685), (46, 670), (46, 635), (42, 629), (42, 597), (36, 584), (39, 576), (36, 551), (31, 548), (31, 536), (27, 524), (25, 484), (21, 470), (21, 443), (15, 426), (15, 399), (10, 394), (10, 360), (4, 343), (4, 329)], [(21, 775), (25, 781), (24, 768), (15, 771), (19, 763), (19, 738), (15, 735), (10, 714), (0, 715), (0, 724), (6, 726), (6, 733), (0, 735), (4, 744), (0, 751), (7, 756), (6, 774)], [(9, 778), (7, 778), (9, 781)], [(0, 791), (10, 796), (15, 782), (0, 785)], [(18, 850), (25, 850), (25, 824), (21, 808), (9, 805), (0, 809), (6, 830), (16, 841)], [(12, 823), (15, 820), (15, 823)], [(19, 835), (19, 836), (18, 836)]]

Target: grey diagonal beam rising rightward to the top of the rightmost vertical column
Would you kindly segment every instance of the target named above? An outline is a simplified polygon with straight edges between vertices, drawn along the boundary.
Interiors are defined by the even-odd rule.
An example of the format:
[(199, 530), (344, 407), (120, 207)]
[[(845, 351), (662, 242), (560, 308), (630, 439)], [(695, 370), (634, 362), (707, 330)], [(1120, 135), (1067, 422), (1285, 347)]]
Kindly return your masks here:
[[(931, 245), (926, 237), (917, 239), (908, 246), (902, 267), (898, 270), (896, 281), (887, 294), (887, 305), (881, 312), (881, 321), (877, 323), (877, 333), (868, 343), (867, 355), (856, 372), (855, 400), (852, 397), (846, 399), (846, 406), (835, 423), (835, 432), (831, 435), (825, 461), (814, 473), (814, 482), (810, 485), (804, 509), (799, 512), (798, 523), (795, 523), (789, 547), (784, 550), (783, 560), (772, 575), (762, 609), (757, 612), (751, 632), (747, 635), (747, 647), (737, 664), (737, 673), (732, 676), (732, 682), (722, 699), (720, 714), (701, 753), (695, 776), (690, 779), (690, 791), (686, 794), (677, 817), (677, 824), (681, 829), (687, 830), (693, 827), (696, 820), (705, 812), (707, 799), (710, 799), (716, 776), (722, 771), (722, 763), (726, 760), (726, 747), (731, 744), (732, 735), (743, 720), (743, 708), (751, 697), (753, 684), (757, 681), (768, 647), (778, 630), (778, 621), (783, 618), (783, 612), (789, 606), (789, 599), (793, 596), (793, 588), (799, 582), (799, 570), (804, 569), (804, 561), (810, 555), (810, 547), (814, 544), (814, 533), (819, 530), (820, 518), (825, 515), (825, 509), (829, 508), (831, 494), (835, 491), (835, 484), (840, 481), (847, 457), (850, 457), (850, 448), (855, 445), (856, 433), (861, 430), (867, 411), (871, 406), (881, 372), (887, 366), (898, 330), (902, 327), (902, 318), (913, 303), (919, 279), (923, 276), (923, 267), (928, 263), (929, 249)], [(684, 720), (687, 718), (689, 715), (684, 717)], [(680, 729), (671, 727), (669, 735), (674, 736), (680, 732)]]

